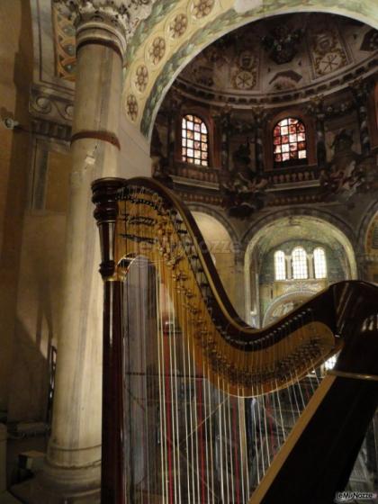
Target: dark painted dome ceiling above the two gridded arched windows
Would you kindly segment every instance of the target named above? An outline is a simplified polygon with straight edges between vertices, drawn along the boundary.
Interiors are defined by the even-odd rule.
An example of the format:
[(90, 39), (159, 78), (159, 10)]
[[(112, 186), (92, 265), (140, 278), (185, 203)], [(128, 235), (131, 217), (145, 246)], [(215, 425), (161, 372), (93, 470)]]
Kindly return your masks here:
[(288, 14), (246, 25), (213, 42), (179, 82), (233, 95), (284, 94), (346, 73), (378, 56), (378, 31), (329, 14)]

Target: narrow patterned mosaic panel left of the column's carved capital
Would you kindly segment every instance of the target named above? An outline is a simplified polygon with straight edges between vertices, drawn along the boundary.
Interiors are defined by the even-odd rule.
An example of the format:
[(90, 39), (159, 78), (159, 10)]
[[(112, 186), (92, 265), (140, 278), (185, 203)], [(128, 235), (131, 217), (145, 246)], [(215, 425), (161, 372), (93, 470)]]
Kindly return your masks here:
[(52, 22), (55, 33), (55, 58), (57, 75), (74, 81), (76, 70), (76, 38), (73, 23), (52, 7)]

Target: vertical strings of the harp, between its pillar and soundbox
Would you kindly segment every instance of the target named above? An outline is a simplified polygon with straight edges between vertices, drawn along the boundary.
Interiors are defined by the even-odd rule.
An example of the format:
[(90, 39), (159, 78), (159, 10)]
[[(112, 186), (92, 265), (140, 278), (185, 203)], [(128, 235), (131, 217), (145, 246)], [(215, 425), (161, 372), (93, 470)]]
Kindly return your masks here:
[[(261, 377), (261, 380), (256, 379), (257, 397), (235, 397), (238, 393), (231, 390), (221, 374), (217, 375), (215, 385), (211, 383), (208, 379), (212, 374), (210, 360), (198, 361), (196, 347), (200, 342), (199, 346), (205, 348), (211, 338), (215, 338), (215, 332), (212, 333), (215, 329), (206, 325), (203, 312), (208, 291), (204, 286), (203, 298), (193, 294), (198, 285), (206, 283), (206, 277), (198, 257), (193, 257), (194, 273), (190, 282), (183, 286), (180, 281), (173, 280), (173, 275), (183, 270), (168, 264), (166, 249), (157, 244), (156, 232), (144, 223), (146, 216), (156, 218), (152, 207), (146, 211), (138, 202), (145, 198), (145, 192), (134, 191), (130, 201), (122, 202), (121, 206), (123, 235), (130, 234), (130, 220), (137, 218), (132, 234), (149, 240), (148, 247), (146, 241), (137, 238), (124, 240), (126, 256), (147, 257), (144, 263), (139, 261), (137, 281), (139, 285), (147, 285), (147, 295), (135, 291), (135, 286), (129, 285), (127, 289), (129, 297), (139, 293), (140, 310), (139, 315), (130, 313), (126, 320), (129, 323), (132, 317), (137, 319), (142, 336), (137, 342), (135, 333), (126, 343), (129, 417), (134, 416), (135, 411), (139, 411), (139, 415), (141, 411), (146, 414), (140, 425), (135, 420), (130, 424), (128, 495), (131, 502), (151, 504), (245, 503), (284, 442), (288, 423), (297, 419), (309, 401), (318, 376), (311, 374), (309, 378), (285, 372), (287, 382), (292, 385), (283, 391), (275, 375), (275, 392), (266, 393), (263, 387), (266, 362), (260, 342), (260, 351), (248, 357), (249, 361), (240, 353), (237, 366), (239, 378), (247, 362), (257, 370), (256, 375)], [(184, 229), (177, 216), (169, 218), (175, 233)], [(171, 252), (174, 250), (176, 257), (181, 253), (193, 256), (193, 246), (182, 242), (183, 247), (178, 249), (172, 235), (166, 247), (170, 247)], [(147, 261), (154, 266), (151, 290)], [(156, 310), (156, 317), (153, 317), (156, 334), (152, 335), (155, 344), (151, 343), (149, 324), (145, 321), (152, 315), (148, 308), (142, 309), (144, 303)], [(300, 330), (303, 323), (304, 320), (298, 320)], [(293, 353), (293, 338), (287, 338), (293, 327), (278, 330), (284, 331), (280, 336), (286, 338), (281, 347), (273, 346), (273, 363), (279, 354)], [(273, 341), (274, 337), (270, 338)], [(226, 343), (221, 345), (218, 352), (227, 353)], [(138, 365), (131, 362), (136, 350), (140, 352)], [(138, 378), (132, 376), (135, 371), (139, 372)], [(236, 381), (241, 383), (241, 378)], [(240, 395), (243, 393), (240, 389)], [(143, 446), (141, 455), (135, 448), (139, 438)]]

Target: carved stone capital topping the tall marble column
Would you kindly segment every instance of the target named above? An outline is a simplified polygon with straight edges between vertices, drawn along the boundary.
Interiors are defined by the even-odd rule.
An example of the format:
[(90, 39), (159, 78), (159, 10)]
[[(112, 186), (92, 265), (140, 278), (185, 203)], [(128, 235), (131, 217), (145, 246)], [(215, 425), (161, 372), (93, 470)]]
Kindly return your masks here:
[(138, 23), (148, 17), (156, 0), (53, 0), (61, 14), (76, 26), (77, 35), (92, 28), (105, 30), (124, 54)]

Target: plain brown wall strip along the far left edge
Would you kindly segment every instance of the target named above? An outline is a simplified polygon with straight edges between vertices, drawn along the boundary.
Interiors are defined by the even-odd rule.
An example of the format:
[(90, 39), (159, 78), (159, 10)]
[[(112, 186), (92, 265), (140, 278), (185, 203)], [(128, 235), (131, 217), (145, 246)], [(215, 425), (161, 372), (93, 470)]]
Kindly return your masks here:
[(0, 125), (0, 411), (6, 410), (14, 352), (14, 329), (23, 211), (30, 170), (28, 112), (32, 80), (31, 8), (27, 1), (0, 5), (1, 119), (18, 121), (12, 129)]

